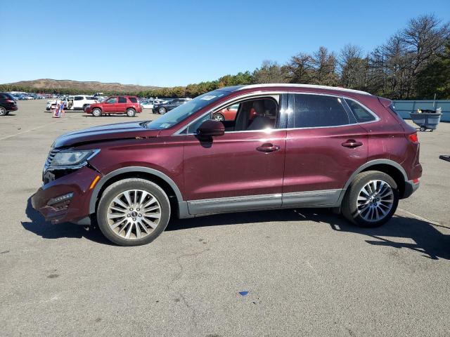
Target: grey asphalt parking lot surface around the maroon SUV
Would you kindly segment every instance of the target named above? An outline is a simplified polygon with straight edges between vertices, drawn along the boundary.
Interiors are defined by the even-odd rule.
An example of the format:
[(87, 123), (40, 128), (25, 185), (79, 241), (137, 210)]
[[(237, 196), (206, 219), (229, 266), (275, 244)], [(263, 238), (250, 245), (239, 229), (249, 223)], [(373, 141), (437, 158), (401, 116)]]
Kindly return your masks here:
[(29, 198), (56, 136), (129, 117), (18, 104), (0, 118), (0, 336), (450, 335), (450, 124), (419, 133), (421, 187), (383, 227), (233, 213), (171, 220), (126, 248), (44, 222)]

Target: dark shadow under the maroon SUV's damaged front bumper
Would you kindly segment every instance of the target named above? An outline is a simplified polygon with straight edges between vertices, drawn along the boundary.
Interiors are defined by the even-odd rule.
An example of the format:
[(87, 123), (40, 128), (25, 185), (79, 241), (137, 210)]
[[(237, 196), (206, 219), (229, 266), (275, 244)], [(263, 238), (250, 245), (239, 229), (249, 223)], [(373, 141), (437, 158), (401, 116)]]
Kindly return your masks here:
[(106, 239), (97, 227), (92, 227), (85, 230), (83, 226), (75, 225), (73, 223), (59, 223), (58, 225), (51, 225), (46, 221), (41, 214), (33, 209), (31, 204), (31, 197), (27, 201), (27, 209), (25, 213), (30, 221), (22, 221), (22, 226), (25, 230), (29, 230), (43, 239), (61, 239), (67, 237), (70, 239), (81, 239), (85, 237), (93, 242), (99, 244), (107, 244), (114, 246), (108, 239)]

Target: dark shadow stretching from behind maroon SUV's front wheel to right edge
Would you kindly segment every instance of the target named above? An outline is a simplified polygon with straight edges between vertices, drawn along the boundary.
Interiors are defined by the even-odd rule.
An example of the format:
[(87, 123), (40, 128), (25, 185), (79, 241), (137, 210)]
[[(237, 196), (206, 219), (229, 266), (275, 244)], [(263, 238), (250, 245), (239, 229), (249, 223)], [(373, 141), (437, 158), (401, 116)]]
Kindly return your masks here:
[[(450, 230), (444, 225), (433, 225), (427, 221), (395, 215), (385, 225), (363, 228), (352, 225), (345, 218), (327, 209), (286, 209), (245, 213), (217, 214), (184, 220), (172, 219), (166, 230), (186, 230), (212, 225), (242, 225), (271, 221), (314, 221), (329, 225), (336, 232), (361, 234), (366, 243), (373, 246), (391, 246), (397, 249), (411, 249), (422, 253), (425, 258), (450, 260)], [(412, 243), (411, 243), (412, 242)]]

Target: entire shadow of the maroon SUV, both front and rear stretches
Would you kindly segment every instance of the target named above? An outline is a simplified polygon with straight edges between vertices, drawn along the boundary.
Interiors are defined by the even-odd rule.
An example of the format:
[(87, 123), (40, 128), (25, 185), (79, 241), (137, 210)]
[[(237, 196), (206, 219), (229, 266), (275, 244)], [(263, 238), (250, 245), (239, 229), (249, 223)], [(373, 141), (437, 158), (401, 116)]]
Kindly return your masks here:
[[(44, 220), (39, 212), (33, 209), (31, 197), (27, 200), (25, 213), (30, 219), (30, 221), (22, 222), (25, 230), (29, 230), (43, 239), (60, 239), (63, 237), (81, 239), (84, 237), (99, 244), (114, 245), (103, 237), (97, 227), (92, 227), (89, 231), (86, 231), (82, 226), (72, 223), (51, 225)], [(439, 260), (439, 258), (450, 260), (450, 235), (441, 232), (441, 230), (450, 230), (450, 227), (433, 225), (424, 220), (399, 215), (395, 215), (381, 227), (361, 228), (348, 223), (342, 216), (338, 216), (327, 209), (281, 209), (216, 214), (182, 220), (171, 218), (166, 231), (266, 222), (298, 222), (301, 225), (305, 221), (323, 223), (336, 232), (361, 234), (362, 239), (373, 246), (411, 249), (432, 260)]]

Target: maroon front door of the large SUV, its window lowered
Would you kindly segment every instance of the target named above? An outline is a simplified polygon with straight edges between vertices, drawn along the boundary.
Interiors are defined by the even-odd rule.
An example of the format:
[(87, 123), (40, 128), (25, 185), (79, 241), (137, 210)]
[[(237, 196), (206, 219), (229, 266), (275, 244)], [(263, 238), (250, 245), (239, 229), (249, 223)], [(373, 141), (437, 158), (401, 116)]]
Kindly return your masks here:
[[(188, 128), (184, 186), (189, 213), (281, 207), (286, 130), (278, 128), (279, 107), (277, 102), (272, 128), (228, 128), (223, 136), (209, 141), (200, 140)], [(249, 112), (240, 109), (237, 115), (248, 119)], [(214, 113), (203, 120), (211, 119)]]

